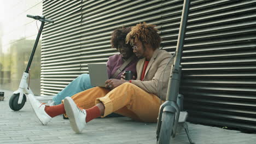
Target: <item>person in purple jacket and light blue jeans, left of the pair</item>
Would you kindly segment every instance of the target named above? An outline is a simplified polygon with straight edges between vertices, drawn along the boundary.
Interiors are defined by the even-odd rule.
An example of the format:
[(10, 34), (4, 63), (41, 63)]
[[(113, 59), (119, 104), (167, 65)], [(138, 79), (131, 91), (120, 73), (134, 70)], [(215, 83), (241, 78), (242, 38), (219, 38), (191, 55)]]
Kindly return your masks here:
[[(120, 53), (114, 56), (110, 56), (107, 61), (107, 71), (109, 79), (120, 79), (121, 74), (126, 70), (132, 71), (136, 76), (136, 63), (138, 58), (132, 52), (132, 47), (130, 44), (125, 43), (126, 35), (131, 31), (131, 27), (122, 27), (115, 29), (112, 33), (110, 40), (112, 48), (117, 49)], [(118, 71), (121, 65), (124, 64), (131, 58), (131, 62), (126, 65), (122, 71)], [(117, 73), (118, 72), (118, 73)], [(117, 74), (115, 74), (117, 73)], [(93, 86), (90, 82), (89, 74), (82, 74), (74, 79), (67, 87), (65, 87), (61, 92), (53, 97), (53, 101), (49, 101), (49, 105), (59, 105), (61, 100), (66, 97), (71, 97), (72, 95), (90, 89)]]

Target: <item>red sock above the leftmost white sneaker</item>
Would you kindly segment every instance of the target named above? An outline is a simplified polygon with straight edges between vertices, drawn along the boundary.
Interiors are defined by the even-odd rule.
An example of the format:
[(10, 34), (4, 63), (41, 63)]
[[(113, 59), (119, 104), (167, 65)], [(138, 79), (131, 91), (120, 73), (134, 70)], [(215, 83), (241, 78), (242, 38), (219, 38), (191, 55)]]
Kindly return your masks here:
[(54, 105), (54, 106), (45, 106), (44, 111), (50, 117), (55, 117), (55, 116), (58, 116), (58, 115), (66, 113), (63, 104)]

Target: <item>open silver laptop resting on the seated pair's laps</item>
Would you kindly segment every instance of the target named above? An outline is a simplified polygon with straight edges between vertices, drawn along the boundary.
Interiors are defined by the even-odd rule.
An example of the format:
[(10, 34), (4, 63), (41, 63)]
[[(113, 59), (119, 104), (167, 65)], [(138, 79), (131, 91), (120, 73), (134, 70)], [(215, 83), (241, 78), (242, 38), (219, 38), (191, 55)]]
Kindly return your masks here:
[(107, 65), (100, 63), (88, 64), (91, 85), (96, 87), (105, 87), (105, 81), (108, 80)]

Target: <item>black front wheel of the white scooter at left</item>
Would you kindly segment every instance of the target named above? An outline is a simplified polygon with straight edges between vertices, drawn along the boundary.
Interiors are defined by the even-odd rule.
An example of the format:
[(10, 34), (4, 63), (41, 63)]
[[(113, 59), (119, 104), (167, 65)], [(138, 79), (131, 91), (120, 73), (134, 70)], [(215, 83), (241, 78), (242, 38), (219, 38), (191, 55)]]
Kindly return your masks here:
[(20, 96), (20, 93), (11, 95), (9, 100), (9, 106), (11, 110), (19, 111), (25, 105), (25, 102), (27, 101), (26, 95), (23, 94), (23, 99), (21, 101), (21, 104), (18, 104), (19, 96)]

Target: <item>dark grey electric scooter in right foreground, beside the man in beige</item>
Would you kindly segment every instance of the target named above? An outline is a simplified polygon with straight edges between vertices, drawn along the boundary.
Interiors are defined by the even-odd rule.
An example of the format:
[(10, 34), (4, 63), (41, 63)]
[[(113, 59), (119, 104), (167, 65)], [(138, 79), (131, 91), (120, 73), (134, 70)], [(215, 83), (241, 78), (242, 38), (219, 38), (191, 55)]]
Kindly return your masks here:
[(178, 127), (183, 127), (185, 129), (190, 144), (193, 143), (190, 139), (188, 125), (185, 123), (188, 117), (188, 112), (183, 111), (183, 100), (179, 99), (179, 97), (182, 97), (182, 95), (179, 94), (179, 82), (181, 81), (181, 58), (185, 31), (187, 28), (189, 5), (190, 1), (184, 0), (175, 52), (176, 56), (174, 57), (174, 63), (171, 68), (166, 101), (160, 106), (159, 110), (156, 129), (156, 140), (158, 144), (169, 144), (176, 136)]

